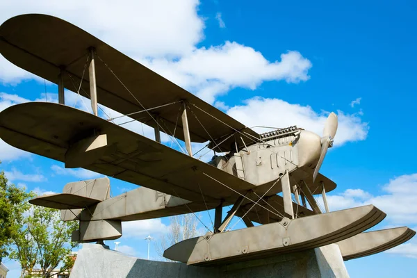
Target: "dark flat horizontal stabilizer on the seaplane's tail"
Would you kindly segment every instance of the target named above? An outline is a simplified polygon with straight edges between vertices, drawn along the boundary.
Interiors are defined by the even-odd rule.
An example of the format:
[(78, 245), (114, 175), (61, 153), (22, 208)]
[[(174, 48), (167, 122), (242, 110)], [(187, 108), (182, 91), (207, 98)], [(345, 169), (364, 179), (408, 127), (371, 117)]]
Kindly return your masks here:
[(29, 201), (36, 206), (45, 206), (47, 208), (57, 209), (74, 209), (85, 208), (101, 202), (99, 199), (92, 199), (71, 193), (59, 193), (51, 195), (38, 196)]

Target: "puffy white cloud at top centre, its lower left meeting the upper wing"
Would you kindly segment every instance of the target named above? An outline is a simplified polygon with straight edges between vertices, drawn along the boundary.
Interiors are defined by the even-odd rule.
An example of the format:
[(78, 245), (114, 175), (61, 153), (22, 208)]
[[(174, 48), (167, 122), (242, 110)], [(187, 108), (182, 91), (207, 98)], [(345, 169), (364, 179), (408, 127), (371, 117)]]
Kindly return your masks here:
[(255, 90), (263, 81), (297, 83), (310, 78), (311, 62), (297, 51), (270, 62), (261, 52), (237, 42), (202, 47), (180, 60), (147, 59), (143, 63), (210, 104), (231, 88)]

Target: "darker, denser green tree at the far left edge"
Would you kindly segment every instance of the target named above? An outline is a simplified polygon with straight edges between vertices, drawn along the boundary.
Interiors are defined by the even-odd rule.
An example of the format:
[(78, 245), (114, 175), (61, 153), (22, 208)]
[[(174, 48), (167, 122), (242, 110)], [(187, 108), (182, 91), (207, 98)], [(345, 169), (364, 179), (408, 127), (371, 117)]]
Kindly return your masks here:
[(24, 188), (10, 184), (4, 172), (0, 172), (0, 262), (8, 256), (11, 238), (17, 228), (16, 220), (21, 219), (28, 210), (26, 201), (33, 196), (33, 193), (26, 193)]

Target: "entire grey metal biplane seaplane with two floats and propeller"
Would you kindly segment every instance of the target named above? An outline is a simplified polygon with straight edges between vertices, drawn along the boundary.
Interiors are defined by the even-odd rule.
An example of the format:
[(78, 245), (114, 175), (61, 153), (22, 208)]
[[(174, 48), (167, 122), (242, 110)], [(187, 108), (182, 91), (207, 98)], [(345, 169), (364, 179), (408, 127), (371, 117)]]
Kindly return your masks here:
[[(415, 234), (407, 227), (363, 233), (386, 216), (373, 205), (329, 211), (326, 193), (336, 183), (319, 170), (336, 135), (334, 113), (320, 136), (297, 126), (256, 133), (49, 15), (8, 19), (0, 26), (0, 51), (18, 67), (57, 83), (59, 99), (58, 104), (31, 102), (2, 111), (2, 140), (65, 167), (140, 186), (110, 197), (105, 177), (68, 183), (63, 193), (31, 200), (62, 210), (64, 221), (79, 221), (73, 240), (120, 238), (123, 221), (211, 209), (213, 231), (173, 245), (166, 258), (216, 265), (337, 243), (347, 260), (382, 252)], [(91, 99), (93, 113), (65, 106), (65, 88)], [(99, 117), (99, 104), (152, 126), (156, 140)], [(183, 140), (186, 154), (161, 144), (161, 132)], [(205, 163), (193, 156), (191, 142), (208, 142), (213, 159)], [(223, 217), (224, 206), (232, 208)], [(247, 228), (229, 231), (235, 216)]]

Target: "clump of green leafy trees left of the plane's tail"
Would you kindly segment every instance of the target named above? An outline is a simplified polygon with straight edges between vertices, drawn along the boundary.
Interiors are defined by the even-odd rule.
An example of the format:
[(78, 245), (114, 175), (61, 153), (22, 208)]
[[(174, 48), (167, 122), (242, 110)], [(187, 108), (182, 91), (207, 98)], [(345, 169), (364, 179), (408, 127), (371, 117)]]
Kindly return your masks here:
[(78, 222), (63, 222), (57, 209), (32, 206), (27, 201), (33, 197), (0, 172), (0, 261), (6, 256), (19, 261), (22, 277), (35, 267), (42, 277), (51, 277), (58, 266), (63, 272), (74, 265), (67, 255), (76, 246), (71, 234)]

